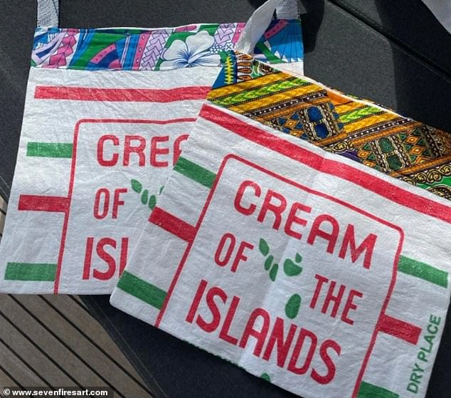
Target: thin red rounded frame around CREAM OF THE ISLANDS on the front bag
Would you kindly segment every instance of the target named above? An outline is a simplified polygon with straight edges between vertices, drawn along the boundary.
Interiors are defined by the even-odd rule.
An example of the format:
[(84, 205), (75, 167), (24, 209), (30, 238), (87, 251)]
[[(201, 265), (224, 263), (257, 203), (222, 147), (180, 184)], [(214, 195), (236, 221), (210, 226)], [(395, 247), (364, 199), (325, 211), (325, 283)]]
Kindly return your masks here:
[(223, 162), (221, 163), (221, 167), (219, 168), (218, 174), (216, 175), (216, 180), (215, 180), (215, 182), (213, 184), (213, 187), (211, 187), (210, 192), (208, 193), (208, 197), (207, 197), (206, 202), (205, 202), (205, 204), (203, 206), (203, 209), (201, 211), (201, 215), (199, 216), (199, 219), (197, 221), (197, 224), (196, 224), (196, 227), (195, 227), (196, 233), (195, 233), (194, 239), (192, 241), (189, 241), (188, 246), (186, 246), (186, 250), (184, 251), (184, 255), (182, 256), (181, 261), (179, 263), (179, 266), (176, 269), (176, 273), (174, 274), (174, 278), (171, 281), (171, 286), (169, 287), (168, 293), (166, 294), (166, 298), (165, 298), (164, 303), (163, 303), (163, 305), (161, 307), (159, 315), (156, 318), (156, 321), (155, 321), (156, 328), (159, 328), (159, 325), (161, 323), (163, 315), (166, 312), (167, 305), (169, 304), (169, 300), (171, 300), (171, 295), (174, 292), (176, 284), (179, 281), (179, 277), (180, 277), (181, 271), (182, 271), (182, 269), (185, 266), (186, 259), (188, 258), (189, 253), (191, 252), (191, 248), (193, 247), (194, 242), (196, 241), (197, 231), (201, 227), (201, 224), (202, 224), (203, 219), (204, 219), (204, 217), (206, 215), (206, 212), (208, 211), (208, 207), (210, 206), (211, 200), (213, 199), (213, 196), (214, 196), (214, 194), (216, 192), (216, 187), (218, 186), (218, 183), (221, 180), (223, 171), (226, 168), (228, 160), (230, 160), (230, 159), (236, 159), (239, 162), (247, 164), (248, 166), (253, 167), (254, 169), (258, 169), (260, 172), (264, 172), (264, 173), (270, 175), (273, 178), (280, 179), (282, 182), (285, 182), (286, 184), (290, 184), (290, 185), (292, 185), (292, 186), (294, 186), (294, 187), (296, 187), (298, 189), (304, 190), (305, 192), (309, 192), (309, 194), (314, 194), (314, 195), (317, 195), (319, 197), (323, 197), (324, 199), (328, 199), (330, 201), (334, 201), (337, 204), (340, 204), (341, 206), (345, 206), (348, 209), (351, 209), (351, 211), (356, 211), (359, 214), (362, 214), (362, 215), (364, 215), (364, 216), (366, 216), (366, 217), (368, 217), (370, 219), (373, 219), (374, 221), (377, 221), (377, 222), (379, 222), (381, 224), (384, 224), (384, 225), (388, 226), (389, 228), (392, 228), (392, 229), (395, 229), (396, 231), (398, 231), (398, 234), (400, 235), (400, 240), (399, 240), (398, 249), (396, 251), (396, 255), (395, 255), (395, 258), (394, 258), (394, 261), (393, 261), (393, 271), (392, 271), (391, 282), (390, 282), (390, 285), (388, 287), (388, 292), (387, 292), (386, 298), (385, 298), (385, 300), (383, 302), (383, 305), (382, 305), (382, 308), (381, 308), (381, 313), (379, 314), (379, 317), (378, 317), (378, 321), (377, 321), (376, 325), (374, 326), (374, 330), (373, 330), (373, 333), (371, 335), (370, 344), (368, 346), (368, 350), (366, 351), (366, 355), (364, 357), (364, 362), (361, 365), (361, 370), (359, 372), (359, 376), (357, 377), (356, 384), (354, 386), (354, 392), (352, 394), (352, 397), (355, 398), (357, 396), (357, 394), (359, 393), (359, 387), (360, 387), (360, 384), (361, 384), (361, 380), (364, 377), (364, 372), (366, 370), (366, 365), (368, 365), (369, 358), (371, 357), (371, 352), (373, 351), (374, 344), (376, 343), (376, 336), (377, 336), (378, 332), (385, 331), (384, 328), (386, 328), (386, 323), (384, 323), (384, 320), (386, 320), (386, 318), (387, 318), (386, 309), (388, 307), (388, 302), (390, 301), (391, 295), (393, 293), (393, 290), (394, 290), (395, 284), (396, 284), (396, 276), (397, 276), (397, 272), (398, 272), (398, 261), (399, 261), (400, 253), (401, 253), (402, 248), (403, 248), (404, 231), (403, 231), (403, 229), (400, 228), (400, 226), (396, 226), (395, 224), (392, 224), (391, 222), (383, 220), (383, 219), (379, 218), (378, 216), (374, 216), (373, 214), (368, 213), (368, 211), (365, 211), (363, 209), (359, 209), (359, 207), (357, 207), (357, 206), (349, 204), (346, 201), (343, 201), (341, 199), (337, 199), (335, 197), (331, 197), (330, 195), (324, 194), (323, 192), (319, 192), (319, 191), (316, 191), (316, 190), (311, 189), (309, 187), (306, 187), (306, 186), (304, 186), (302, 184), (299, 184), (297, 182), (293, 182), (292, 180), (287, 179), (287, 178), (281, 176), (280, 174), (276, 174), (274, 172), (271, 172), (270, 170), (265, 169), (264, 167), (261, 167), (258, 164), (255, 164), (253, 162), (250, 162), (249, 160), (244, 159), (243, 157), (239, 157), (237, 155), (227, 155), (226, 157), (223, 158)]

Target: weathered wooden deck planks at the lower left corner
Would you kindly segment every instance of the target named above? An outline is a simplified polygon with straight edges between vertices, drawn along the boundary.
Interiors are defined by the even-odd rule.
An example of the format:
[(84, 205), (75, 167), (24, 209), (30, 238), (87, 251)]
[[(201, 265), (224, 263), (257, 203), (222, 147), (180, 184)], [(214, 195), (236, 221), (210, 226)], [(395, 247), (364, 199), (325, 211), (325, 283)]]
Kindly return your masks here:
[(16, 385), (112, 387), (115, 397), (152, 397), (107, 332), (70, 296), (0, 295), (0, 365), (0, 392)]

